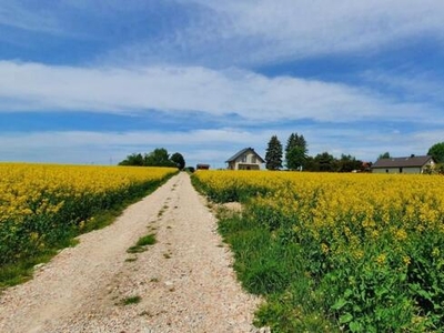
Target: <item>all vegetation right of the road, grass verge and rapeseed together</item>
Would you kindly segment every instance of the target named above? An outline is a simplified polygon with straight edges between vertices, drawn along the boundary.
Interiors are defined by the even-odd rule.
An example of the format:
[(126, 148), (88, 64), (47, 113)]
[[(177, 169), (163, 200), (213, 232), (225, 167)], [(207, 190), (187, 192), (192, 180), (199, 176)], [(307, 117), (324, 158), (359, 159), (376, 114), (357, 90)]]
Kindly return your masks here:
[(441, 175), (198, 171), (272, 332), (444, 329)]

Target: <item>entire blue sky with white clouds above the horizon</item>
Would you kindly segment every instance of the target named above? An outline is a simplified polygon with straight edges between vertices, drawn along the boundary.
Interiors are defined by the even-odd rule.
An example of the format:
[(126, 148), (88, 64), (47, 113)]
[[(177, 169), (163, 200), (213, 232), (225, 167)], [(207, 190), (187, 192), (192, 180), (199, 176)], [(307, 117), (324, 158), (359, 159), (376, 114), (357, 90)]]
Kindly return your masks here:
[(438, 0), (3, 0), (0, 161), (163, 147), (223, 168), (271, 135), (374, 161), (444, 141)]

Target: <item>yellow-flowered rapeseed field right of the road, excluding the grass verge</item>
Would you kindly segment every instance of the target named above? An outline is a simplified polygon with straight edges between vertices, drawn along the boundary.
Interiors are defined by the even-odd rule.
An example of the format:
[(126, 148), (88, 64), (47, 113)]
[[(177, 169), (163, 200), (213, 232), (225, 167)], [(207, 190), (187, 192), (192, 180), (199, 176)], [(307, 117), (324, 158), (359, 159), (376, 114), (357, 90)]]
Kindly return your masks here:
[(214, 201), (243, 202), (243, 223), (270, 233), (268, 249), (296, 246), (310, 295), (343, 327), (444, 329), (444, 176), (199, 171), (194, 182)]

